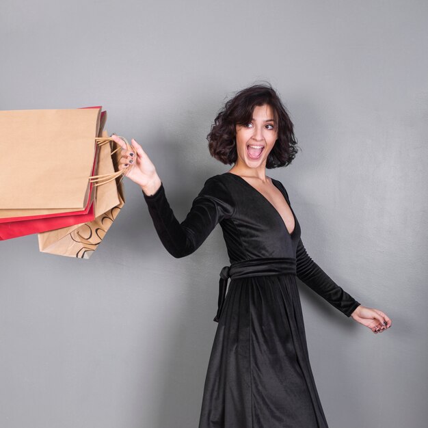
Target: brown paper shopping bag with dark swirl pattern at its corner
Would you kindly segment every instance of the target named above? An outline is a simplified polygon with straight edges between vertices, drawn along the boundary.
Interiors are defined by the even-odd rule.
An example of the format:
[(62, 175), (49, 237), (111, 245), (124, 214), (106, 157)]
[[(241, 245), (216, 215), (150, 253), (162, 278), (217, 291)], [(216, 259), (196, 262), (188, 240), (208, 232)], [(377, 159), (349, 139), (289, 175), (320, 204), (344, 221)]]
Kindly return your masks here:
[[(113, 141), (104, 134), (101, 142), (98, 174), (91, 182), (96, 186), (95, 219), (70, 228), (61, 228), (38, 234), (39, 250), (49, 254), (90, 258), (101, 243), (107, 230), (118, 216), (124, 205), (124, 187), (122, 178), (126, 170), (118, 170), (121, 157), (120, 147), (113, 150)], [(126, 139), (124, 139), (126, 142)], [(128, 142), (126, 145), (129, 149)]]

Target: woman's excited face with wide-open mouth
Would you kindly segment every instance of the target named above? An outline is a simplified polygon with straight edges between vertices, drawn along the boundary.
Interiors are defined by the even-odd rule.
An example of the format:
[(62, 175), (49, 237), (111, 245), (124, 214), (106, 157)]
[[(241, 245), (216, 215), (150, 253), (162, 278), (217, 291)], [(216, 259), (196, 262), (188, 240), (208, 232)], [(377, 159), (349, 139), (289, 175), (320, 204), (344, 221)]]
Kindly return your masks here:
[(256, 105), (252, 121), (235, 126), (237, 133), (237, 166), (265, 168), (267, 156), (278, 138), (278, 123), (270, 105)]

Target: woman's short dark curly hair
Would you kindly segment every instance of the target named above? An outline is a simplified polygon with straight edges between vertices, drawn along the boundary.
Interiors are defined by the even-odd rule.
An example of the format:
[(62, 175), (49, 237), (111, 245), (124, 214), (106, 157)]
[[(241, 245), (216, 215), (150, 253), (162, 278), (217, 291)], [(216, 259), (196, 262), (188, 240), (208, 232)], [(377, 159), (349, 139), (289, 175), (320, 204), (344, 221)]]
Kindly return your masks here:
[(226, 165), (235, 163), (237, 161), (235, 126), (250, 123), (254, 107), (265, 104), (271, 106), (278, 122), (278, 139), (267, 157), (266, 168), (289, 165), (297, 155), (299, 147), (289, 113), (270, 83), (245, 88), (226, 102), (206, 136), (211, 156)]

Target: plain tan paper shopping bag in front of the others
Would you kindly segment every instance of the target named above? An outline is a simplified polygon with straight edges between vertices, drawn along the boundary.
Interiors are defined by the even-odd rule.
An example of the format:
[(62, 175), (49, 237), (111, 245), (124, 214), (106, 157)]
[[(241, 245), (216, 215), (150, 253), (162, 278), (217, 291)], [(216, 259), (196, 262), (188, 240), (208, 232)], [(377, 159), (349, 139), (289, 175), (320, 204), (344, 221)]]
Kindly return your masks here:
[(0, 111), (0, 209), (84, 209), (100, 113)]

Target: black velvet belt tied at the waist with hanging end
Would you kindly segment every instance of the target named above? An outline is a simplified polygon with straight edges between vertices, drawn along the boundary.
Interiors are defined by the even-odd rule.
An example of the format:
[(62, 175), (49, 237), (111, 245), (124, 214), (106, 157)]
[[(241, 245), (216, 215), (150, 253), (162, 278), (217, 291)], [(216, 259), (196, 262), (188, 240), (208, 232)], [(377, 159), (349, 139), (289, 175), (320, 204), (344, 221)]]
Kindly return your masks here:
[(226, 299), (228, 278), (232, 280), (247, 278), (249, 276), (283, 275), (284, 273), (296, 273), (296, 259), (293, 257), (263, 257), (239, 260), (225, 266), (220, 272), (219, 302), (215, 322), (219, 322), (220, 315)]

